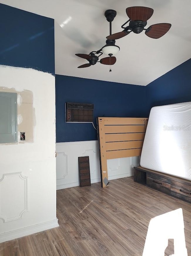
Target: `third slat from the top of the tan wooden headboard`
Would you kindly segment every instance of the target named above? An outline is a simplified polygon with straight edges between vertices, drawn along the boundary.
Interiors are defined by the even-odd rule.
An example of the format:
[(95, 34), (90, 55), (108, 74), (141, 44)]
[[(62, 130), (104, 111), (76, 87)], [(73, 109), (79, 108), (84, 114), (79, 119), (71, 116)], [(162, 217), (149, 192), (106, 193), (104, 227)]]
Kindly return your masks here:
[(144, 140), (144, 132), (105, 134), (105, 142)]

